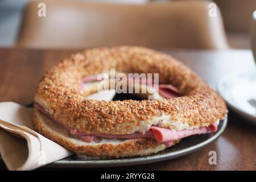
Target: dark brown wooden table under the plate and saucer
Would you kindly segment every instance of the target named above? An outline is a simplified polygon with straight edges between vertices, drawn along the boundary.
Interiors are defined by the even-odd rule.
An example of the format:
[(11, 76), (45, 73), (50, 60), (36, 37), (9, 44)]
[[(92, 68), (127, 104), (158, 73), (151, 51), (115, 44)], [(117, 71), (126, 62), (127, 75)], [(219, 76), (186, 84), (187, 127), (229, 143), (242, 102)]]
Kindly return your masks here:
[[(76, 51), (76, 50), (75, 50)], [(182, 51), (165, 49), (188, 64), (212, 88), (224, 75), (236, 71), (255, 71), (253, 56), (247, 50)], [(43, 72), (74, 50), (47, 51), (0, 48), (0, 101), (27, 105), (33, 102), (36, 84)], [(165, 162), (112, 169), (148, 170), (256, 170), (256, 126), (232, 111), (224, 134), (203, 150)], [(208, 163), (209, 151), (217, 152), (217, 164)], [(4, 164), (0, 169), (6, 169)], [(104, 169), (105, 170), (105, 169)]]

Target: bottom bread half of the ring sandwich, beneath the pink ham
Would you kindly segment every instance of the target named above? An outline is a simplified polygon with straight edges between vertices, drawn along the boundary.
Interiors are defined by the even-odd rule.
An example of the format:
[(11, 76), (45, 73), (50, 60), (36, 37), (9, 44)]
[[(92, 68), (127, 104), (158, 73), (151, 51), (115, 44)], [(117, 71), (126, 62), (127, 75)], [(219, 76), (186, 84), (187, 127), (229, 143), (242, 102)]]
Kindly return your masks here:
[[(110, 142), (91, 144), (72, 138), (68, 130), (60, 127), (36, 109), (34, 110), (33, 120), (34, 127), (39, 133), (76, 154), (100, 156), (102, 158), (119, 158), (155, 154), (167, 148), (165, 144), (160, 144), (150, 138), (127, 139), (113, 143), (110, 140)], [(177, 142), (179, 140), (176, 140), (172, 146)]]

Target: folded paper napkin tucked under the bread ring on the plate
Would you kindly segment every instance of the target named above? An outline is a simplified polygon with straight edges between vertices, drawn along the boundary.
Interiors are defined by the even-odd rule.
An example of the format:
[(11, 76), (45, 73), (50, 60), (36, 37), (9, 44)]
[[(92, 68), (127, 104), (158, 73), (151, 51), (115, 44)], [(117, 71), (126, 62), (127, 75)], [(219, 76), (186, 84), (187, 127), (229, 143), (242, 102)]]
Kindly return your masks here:
[[(115, 93), (96, 93), (90, 99), (112, 100)], [(72, 155), (59, 144), (36, 133), (32, 108), (0, 102), (0, 154), (9, 170), (32, 170)]]

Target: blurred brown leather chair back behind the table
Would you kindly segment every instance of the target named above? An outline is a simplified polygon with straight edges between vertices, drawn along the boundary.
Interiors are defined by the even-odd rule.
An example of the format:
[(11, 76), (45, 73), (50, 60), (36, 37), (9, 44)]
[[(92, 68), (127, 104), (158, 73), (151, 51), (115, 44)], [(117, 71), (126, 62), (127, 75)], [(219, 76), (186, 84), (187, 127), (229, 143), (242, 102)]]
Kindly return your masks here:
[[(38, 3), (46, 3), (46, 17)], [(18, 47), (84, 48), (136, 45), (152, 48), (227, 48), (220, 11), (209, 1), (147, 4), (32, 1), (24, 13)]]

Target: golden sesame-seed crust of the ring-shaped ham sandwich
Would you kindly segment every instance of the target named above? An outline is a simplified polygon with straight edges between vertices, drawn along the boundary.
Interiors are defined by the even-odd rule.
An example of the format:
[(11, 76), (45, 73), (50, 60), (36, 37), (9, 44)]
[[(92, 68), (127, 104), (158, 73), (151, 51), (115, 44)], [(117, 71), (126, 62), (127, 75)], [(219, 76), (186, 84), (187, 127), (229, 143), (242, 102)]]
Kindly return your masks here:
[[(125, 73), (159, 73), (159, 82), (175, 86), (183, 96), (142, 101), (86, 100), (80, 90), (80, 80), (113, 68)], [(143, 47), (87, 49), (62, 60), (44, 74), (36, 89), (35, 102), (60, 125), (86, 134), (145, 133), (152, 125), (174, 131), (199, 129), (224, 119), (226, 115), (225, 102), (196, 73), (169, 55)], [(89, 152), (92, 146), (74, 148), (51, 133), (41, 115), (35, 109), (34, 125), (40, 133), (78, 154), (93, 155)], [(152, 144), (152, 139), (145, 138), (127, 140), (123, 144), (133, 143), (136, 148), (137, 140)], [(156, 145), (152, 151), (163, 150), (162, 145)], [(138, 154), (151, 153), (141, 151)], [(119, 155), (109, 149), (98, 155), (131, 154)]]

